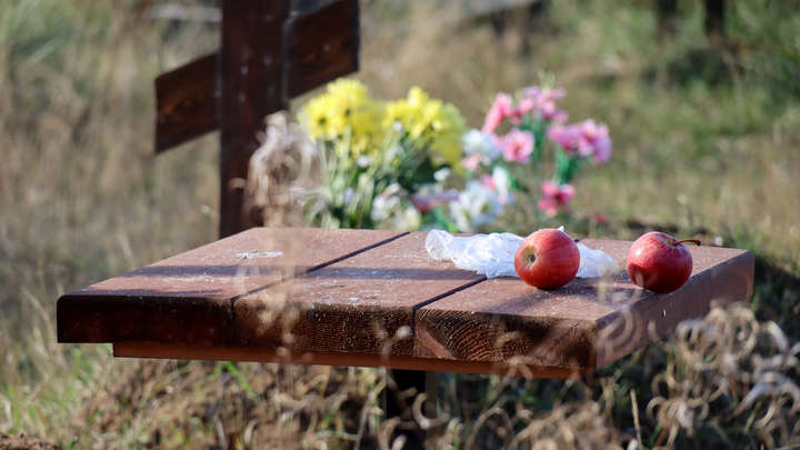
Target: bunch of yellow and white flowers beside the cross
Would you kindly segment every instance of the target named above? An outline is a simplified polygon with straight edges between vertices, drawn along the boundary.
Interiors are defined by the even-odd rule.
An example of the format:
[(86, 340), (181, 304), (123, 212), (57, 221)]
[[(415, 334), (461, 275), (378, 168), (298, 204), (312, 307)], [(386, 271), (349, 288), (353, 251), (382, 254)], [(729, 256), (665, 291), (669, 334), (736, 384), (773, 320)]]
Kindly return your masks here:
[(311, 99), (300, 120), (323, 150), (327, 204), (312, 214), (323, 227), (420, 228), (411, 198), (440, 189), (434, 186), (446, 181), (448, 168), (459, 164), (466, 130), (456, 107), (420, 88), (386, 102), (349, 79)]

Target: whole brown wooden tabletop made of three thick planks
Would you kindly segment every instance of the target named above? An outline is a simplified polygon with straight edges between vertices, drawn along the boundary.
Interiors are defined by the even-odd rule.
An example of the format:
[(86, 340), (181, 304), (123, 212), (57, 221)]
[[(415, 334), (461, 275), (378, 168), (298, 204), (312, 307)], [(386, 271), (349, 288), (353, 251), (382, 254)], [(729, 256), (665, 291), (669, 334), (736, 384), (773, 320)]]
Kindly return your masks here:
[[(542, 291), (433, 262), (424, 237), (253, 229), (63, 296), (59, 341), (111, 342), (120, 357), (573, 378), (752, 293), (744, 250), (691, 248), (692, 277), (669, 294), (624, 270)], [(631, 244), (582, 242), (622, 268)]]

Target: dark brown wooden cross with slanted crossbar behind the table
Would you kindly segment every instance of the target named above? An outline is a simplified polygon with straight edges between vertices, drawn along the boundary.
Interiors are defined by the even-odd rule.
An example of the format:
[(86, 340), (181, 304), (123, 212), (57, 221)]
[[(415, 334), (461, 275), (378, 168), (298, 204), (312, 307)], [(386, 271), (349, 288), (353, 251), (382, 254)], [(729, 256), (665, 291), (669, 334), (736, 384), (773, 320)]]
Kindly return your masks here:
[(249, 228), (242, 191), (263, 119), (358, 70), (358, 0), (290, 14), (289, 0), (222, 0), (220, 48), (156, 79), (156, 152), (220, 130), (220, 237)]

